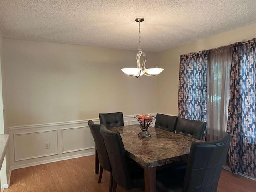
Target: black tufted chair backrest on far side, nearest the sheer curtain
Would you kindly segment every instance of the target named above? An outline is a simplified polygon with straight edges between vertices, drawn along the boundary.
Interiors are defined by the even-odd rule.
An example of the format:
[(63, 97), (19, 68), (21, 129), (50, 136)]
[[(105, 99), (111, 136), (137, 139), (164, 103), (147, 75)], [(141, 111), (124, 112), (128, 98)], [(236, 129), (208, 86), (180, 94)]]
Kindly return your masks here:
[(206, 122), (195, 121), (178, 117), (176, 133), (203, 140)]

